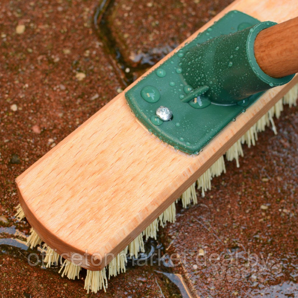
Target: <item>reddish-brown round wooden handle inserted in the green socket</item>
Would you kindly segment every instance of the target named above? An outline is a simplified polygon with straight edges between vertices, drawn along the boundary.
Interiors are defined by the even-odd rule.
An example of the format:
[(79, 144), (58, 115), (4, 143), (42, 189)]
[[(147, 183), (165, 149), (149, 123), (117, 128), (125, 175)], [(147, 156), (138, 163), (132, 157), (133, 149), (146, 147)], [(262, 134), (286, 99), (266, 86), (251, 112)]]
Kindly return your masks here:
[(298, 17), (262, 30), (254, 41), (254, 55), (271, 77), (298, 72)]

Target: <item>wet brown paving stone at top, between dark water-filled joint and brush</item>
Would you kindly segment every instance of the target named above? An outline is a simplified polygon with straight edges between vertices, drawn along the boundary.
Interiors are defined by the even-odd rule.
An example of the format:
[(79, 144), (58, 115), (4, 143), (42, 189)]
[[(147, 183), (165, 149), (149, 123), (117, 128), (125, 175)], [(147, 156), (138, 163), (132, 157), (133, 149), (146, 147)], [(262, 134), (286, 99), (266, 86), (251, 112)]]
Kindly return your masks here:
[(127, 67), (136, 71), (154, 65), (231, 2), (111, 0), (101, 21)]

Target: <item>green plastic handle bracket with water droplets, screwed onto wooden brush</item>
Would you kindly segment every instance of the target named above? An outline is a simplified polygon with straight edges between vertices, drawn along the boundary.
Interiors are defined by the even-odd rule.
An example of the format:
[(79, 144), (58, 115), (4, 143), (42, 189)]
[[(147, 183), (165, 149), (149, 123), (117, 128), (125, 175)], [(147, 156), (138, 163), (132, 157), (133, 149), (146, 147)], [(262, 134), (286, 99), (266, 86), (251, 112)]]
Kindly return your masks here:
[[(159, 139), (198, 154), (264, 90), (294, 77), (271, 78), (254, 58), (255, 37), (274, 24), (227, 13), (128, 90), (129, 106)], [(161, 106), (167, 121), (156, 116)]]

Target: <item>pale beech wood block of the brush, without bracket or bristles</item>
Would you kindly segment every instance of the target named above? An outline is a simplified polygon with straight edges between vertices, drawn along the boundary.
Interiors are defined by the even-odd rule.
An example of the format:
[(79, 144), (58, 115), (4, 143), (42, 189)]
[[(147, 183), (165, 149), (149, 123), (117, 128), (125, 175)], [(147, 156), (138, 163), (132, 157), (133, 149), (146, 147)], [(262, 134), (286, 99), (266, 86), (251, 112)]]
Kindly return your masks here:
[[(297, 16), (298, 1), (235, 1), (188, 41), (230, 10), (279, 23)], [(87, 249), (111, 260), (105, 254), (127, 246), (297, 81), (267, 91), (199, 156), (174, 150), (146, 131), (122, 92), (16, 179), (29, 223), (59, 254)], [(92, 264), (90, 255), (83, 260), (91, 270), (104, 266)]]

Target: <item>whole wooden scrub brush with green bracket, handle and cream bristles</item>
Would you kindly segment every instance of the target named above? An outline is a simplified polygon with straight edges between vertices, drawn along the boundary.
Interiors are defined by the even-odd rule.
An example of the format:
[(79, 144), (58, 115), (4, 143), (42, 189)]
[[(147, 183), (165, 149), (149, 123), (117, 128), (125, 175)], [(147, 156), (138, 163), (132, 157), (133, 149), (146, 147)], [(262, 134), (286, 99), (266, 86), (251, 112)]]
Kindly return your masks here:
[[(268, 126), (277, 133), (273, 117), (298, 95), (298, 18), (260, 23), (235, 10), (255, 14), (247, 2), (231, 4), (129, 86), (130, 108), (119, 94), (16, 179), (16, 217), (32, 225), (30, 248), (44, 243), (46, 267), (64, 257), (62, 276), (75, 279), (83, 267), (87, 292), (106, 290), (106, 270), (108, 279), (125, 272), (144, 239), (175, 221), (181, 193), (183, 207), (197, 203), (196, 188), (204, 197), (226, 171), (224, 153), (239, 167), (243, 144)], [(275, 8), (267, 13), (277, 18)], [(284, 10), (291, 18), (298, 4)]]

